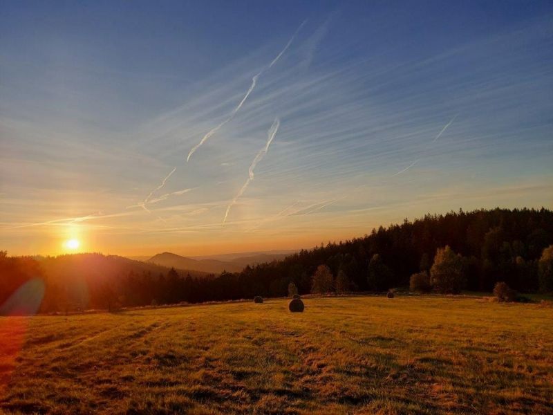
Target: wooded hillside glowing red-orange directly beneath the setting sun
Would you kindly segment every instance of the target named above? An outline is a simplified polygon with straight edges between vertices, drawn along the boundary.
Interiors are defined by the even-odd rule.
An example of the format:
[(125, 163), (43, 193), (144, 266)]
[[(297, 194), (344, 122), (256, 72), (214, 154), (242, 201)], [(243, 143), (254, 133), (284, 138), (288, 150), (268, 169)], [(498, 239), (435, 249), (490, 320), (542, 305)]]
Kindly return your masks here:
[[(138, 306), (152, 301), (176, 302), (180, 282), (204, 280), (210, 275), (196, 270), (171, 270), (165, 266), (102, 254), (59, 257), (8, 257), (0, 250), (0, 315), (2, 304), (32, 279), (44, 282), (41, 311), (66, 307), (109, 308), (113, 304)], [(37, 293), (35, 293), (37, 294)]]

